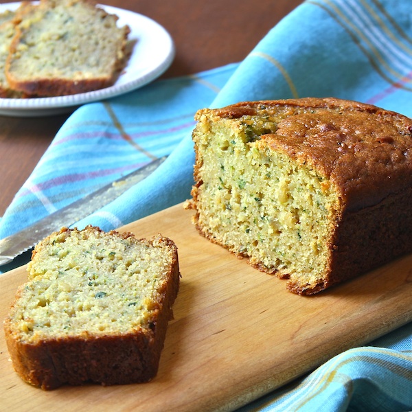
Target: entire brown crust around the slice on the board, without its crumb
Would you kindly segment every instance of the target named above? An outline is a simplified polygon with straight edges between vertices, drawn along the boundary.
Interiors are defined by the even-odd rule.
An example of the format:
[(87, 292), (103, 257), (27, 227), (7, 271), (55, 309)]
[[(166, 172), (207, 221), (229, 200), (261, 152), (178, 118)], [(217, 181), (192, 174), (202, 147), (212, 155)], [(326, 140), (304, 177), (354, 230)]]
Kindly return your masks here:
[[(59, 233), (69, 236), (73, 230), (77, 231), (64, 228)], [(98, 227), (87, 227), (84, 230), (102, 232)], [(168, 282), (162, 284), (157, 300), (151, 302), (150, 317), (133, 332), (84, 332), (78, 336), (41, 339), (34, 343), (20, 339), (13, 332), (12, 319), (7, 317), (4, 321), (5, 340), (14, 369), (25, 382), (49, 390), (63, 384), (82, 385), (85, 382), (102, 385), (148, 382), (157, 374), (168, 321), (173, 317), (172, 305), (179, 290), (176, 245), (161, 235), (151, 240), (137, 240), (133, 233), (109, 233), (110, 236), (122, 239), (146, 242), (148, 247), (156, 242), (172, 251), (173, 258), (166, 275)], [(33, 255), (48, 241), (49, 238), (38, 244)], [(16, 301), (24, 287), (22, 285), (17, 291)]]

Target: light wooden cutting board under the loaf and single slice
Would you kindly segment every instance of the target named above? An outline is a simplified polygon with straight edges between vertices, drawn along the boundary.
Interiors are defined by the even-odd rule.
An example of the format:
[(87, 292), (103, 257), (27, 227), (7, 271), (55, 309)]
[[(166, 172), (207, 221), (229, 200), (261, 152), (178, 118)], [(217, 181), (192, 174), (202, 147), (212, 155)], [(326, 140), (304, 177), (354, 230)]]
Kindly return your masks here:
[[(412, 256), (312, 297), (201, 237), (176, 205), (120, 229), (179, 248), (181, 288), (159, 373), (139, 385), (45, 392), (12, 369), (0, 332), (5, 411), (228, 411), (412, 320)], [(3, 319), (25, 266), (0, 275)]]

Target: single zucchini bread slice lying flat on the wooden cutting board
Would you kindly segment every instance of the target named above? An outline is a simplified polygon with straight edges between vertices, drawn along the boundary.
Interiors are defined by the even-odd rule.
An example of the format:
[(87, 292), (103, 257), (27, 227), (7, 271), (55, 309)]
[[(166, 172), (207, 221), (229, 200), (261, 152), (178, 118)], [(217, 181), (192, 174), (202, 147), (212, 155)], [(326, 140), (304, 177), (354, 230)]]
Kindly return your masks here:
[(147, 382), (179, 288), (176, 245), (161, 235), (62, 229), (37, 244), (4, 321), (17, 374), (42, 389)]

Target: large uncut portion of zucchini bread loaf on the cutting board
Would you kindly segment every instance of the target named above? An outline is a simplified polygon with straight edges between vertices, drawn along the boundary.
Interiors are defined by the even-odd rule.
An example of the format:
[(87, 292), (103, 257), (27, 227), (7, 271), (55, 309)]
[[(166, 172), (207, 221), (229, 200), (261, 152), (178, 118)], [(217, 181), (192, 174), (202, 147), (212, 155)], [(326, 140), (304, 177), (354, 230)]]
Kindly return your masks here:
[(412, 251), (412, 120), (334, 98), (196, 114), (198, 231), (310, 295)]

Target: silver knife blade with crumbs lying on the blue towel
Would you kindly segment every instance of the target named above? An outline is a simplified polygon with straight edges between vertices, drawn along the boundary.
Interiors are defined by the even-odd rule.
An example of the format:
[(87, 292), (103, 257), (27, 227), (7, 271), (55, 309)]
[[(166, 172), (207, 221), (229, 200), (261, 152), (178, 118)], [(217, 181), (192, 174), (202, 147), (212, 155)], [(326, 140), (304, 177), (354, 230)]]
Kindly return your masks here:
[(38, 220), (33, 225), (0, 240), (0, 266), (12, 262), (16, 256), (31, 249), (40, 240), (62, 227), (74, 225), (82, 218), (114, 201), (126, 190), (145, 179), (155, 171), (167, 156), (160, 157), (142, 168), (108, 183), (100, 189), (80, 198), (78, 201)]

